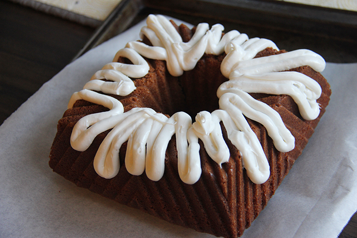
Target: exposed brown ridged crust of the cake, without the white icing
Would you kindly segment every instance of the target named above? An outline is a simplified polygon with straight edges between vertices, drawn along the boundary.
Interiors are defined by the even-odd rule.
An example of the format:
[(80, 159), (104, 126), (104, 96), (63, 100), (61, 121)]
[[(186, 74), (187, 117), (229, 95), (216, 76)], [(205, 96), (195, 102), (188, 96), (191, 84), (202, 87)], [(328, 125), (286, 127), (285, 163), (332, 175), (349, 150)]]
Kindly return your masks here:
[[(177, 28), (182, 38), (188, 41), (192, 36), (191, 30), (185, 26)], [(284, 51), (266, 49), (256, 57), (280, 53)], [(134, 81), (137, 87), (134, 92), (125, 97), (111, 96), (120, 100), (125, 111), (135, 107), (150, 107), (167, 115), (178, 111), (185, 111), (191, 116), (202, 110), (212, 112), (218, 109), (217, 88), (227, 80), (220, 71), (223, 58), (224, 55), (204, 55), (195, 69), (184, 72), (180, 77), (171, 76), (165, 62), (148, 60), (150, 71), (144, 78)], [(202, 175), (193, 185), (185, 184), (179, 178), (175, 136), (166, 151), (165, 174), (159, 181), (148, 179), (145, 173), (132, 176), (126, 171), (123, 160), (126, 144), (120, 150), (119, 174), (113, 179), (104, 179), (94, 171), (93, 159), (109, 131), (98, 135), (84, 152), (75, 151), (69, 144), (73, 126), (80, 118), (108, 110), (83, 100), (77, 101), (59, 120), (50, 154), (50, 167), (80, 187), (168, 222), (218, 237), (239, 237), (266, 206), (289, 173), (329, 102), (330, 86), (320, 73), (309, 66), (291, 70), (302, 72), (321, 85), (323, 93), (317, 100), (321, 112), (317, 119), (306, 121), (300, 117), (297, 105), (290, 96), (251, 94), (275, 109), (296, 138), (295, 149), (281, 153), (275, 149), (265, 127), (248, 119), (270, 165), (270, 178), (263, 184), (254, 184), (247, 177), (240, 154), (227, 138), (223, 124), (224, 138), (231, 153), (230, 160), (220, 168), (209, 158), (200, 141)]]

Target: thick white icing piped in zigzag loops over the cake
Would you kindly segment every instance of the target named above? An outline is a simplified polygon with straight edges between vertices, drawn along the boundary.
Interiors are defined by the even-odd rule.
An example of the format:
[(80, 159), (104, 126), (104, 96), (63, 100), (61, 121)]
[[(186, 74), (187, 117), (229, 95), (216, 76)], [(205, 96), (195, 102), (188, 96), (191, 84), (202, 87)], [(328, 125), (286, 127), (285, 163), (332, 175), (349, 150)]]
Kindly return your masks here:
[[(175, 134), (179, 176), (183, 182), (193, 184), (201, 176), (198, 139), (203, 141), (208, 155), (217, 164), (228, 162), (230, 158), (222, 135), (222, 121), (229, 140), (242, 156), (249, 178), (254, 183), (265, 182), (270, 176), (269, 164), (245, 117), (263, 124), (281, 152), (294, 149), (295, 138), (275, 110), (248, 93), (290, 95), (304, 119), (316, 119), (320, 112), (316, 99), (321, 95), (321, 87), (302, 73), (284, 70), (309, 65), (316, 71), (322, 71), (325, 61), (308, 50), (253, 59), (268, 47), (279, 49), (270, 40), (248, 39), (238, 31), (230, 31), (222, 37), (223, 30), (220, 24), (209, 29), (207, 23), (201, 23), (191, 40), (184, 43), (166, 17), (149, 15), (141, 36), (146, 36), (153, 46), (141, 42), (127, 43), (113, 62), (96, 72), (84, 89), (71, 97), (68, 108), (76, 100), (84, 99), (110, 109), (80, 119), (73, 128), (72, 147), (84, 151), (98, 134), (112, 129), (94, 159), (96, 172), (104, 178), (115, 177), (120, 168), (119, 149), (128, 141), (125, 155), (127, 171), (132, 175), (141, 175), (145, 171), (149, 179), (157, 181), (164, 175), (166, 149)], [(135, 85), (129, 77), (140, 78), (149, 71), (143, 57), (165, 60), (170, 74), (179, 76), (183, 71), (193, 69), (205, 53), (220, 55), (223, 52), (227, 56), (222, 61), (221, 71), (229, 81), (217, 91), (220, 109), (212, 113), (198, 113), (194, 123), (184, 112), (170, 118), (149, 108), (134, 108), (123, 113), (123, 106), (118, 100), (91, 91), (123, 96), (130, 94)], [(119, 57), (125, 57), (133, 64), (119, 63)]]

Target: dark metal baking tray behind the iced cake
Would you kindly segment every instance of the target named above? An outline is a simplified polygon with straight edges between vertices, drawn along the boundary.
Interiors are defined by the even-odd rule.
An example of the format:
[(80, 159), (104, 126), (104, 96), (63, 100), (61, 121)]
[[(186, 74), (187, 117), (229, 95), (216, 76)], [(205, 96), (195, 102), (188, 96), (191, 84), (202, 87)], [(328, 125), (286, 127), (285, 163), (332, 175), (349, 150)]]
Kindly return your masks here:
[(151, 13), (193, 25), (222, 23), (226, 31), (267, 38), (280, 49), (306, 48), (329, 62), (357, 62), (357, 12), (277, 0), (122, 0), (74, 59)]

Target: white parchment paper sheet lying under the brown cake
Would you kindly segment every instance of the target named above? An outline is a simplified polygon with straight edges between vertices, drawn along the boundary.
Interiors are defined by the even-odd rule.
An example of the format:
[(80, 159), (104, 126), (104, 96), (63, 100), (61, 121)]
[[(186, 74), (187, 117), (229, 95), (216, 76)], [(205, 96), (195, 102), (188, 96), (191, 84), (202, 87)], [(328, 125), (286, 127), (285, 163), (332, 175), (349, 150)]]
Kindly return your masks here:
[[(79, 188), (48, 165), (71, 94), (144, 24), (67, 65), (0, 126), (1, 238), (213, 238)], [(357, 64), (327, 63), (323, 75), (330, 105), (244, 238), (335, 238), (357, 210)]]

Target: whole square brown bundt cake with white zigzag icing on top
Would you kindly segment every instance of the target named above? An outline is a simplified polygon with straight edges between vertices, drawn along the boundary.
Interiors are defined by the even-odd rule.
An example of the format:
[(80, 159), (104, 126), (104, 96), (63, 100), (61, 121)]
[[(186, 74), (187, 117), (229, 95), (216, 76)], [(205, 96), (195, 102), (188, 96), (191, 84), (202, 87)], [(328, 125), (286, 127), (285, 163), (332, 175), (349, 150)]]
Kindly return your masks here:
[(331, 90), (319, 55), (223, 30), (149, 15), (142, 40), (71, 97), (50, 167), (168, 222), (241, 236), (301, 154)]

